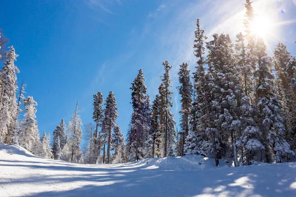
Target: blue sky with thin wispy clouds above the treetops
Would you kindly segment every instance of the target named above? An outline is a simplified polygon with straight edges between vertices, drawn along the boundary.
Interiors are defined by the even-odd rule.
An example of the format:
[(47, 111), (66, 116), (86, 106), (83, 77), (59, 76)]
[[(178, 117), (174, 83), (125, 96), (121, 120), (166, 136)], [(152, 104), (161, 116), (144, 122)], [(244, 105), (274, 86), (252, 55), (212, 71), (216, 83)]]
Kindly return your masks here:
[[(265, 37), (271, 53), (278, 41), (296, 55), (296, 0), (253, 0), (258, 15), (273, 24)], [(163, 72), (173, 66), (175, 119), (178, 121), (178, 67), (193, 70), (196, 19), (213, 33), (243, 31), (244, 0), (3, 0), (0, 28), (19, 55), (19, 84), (37, 101), (40, 132), (66, 124), (79, 101), (82, 123), (92, 121), (93, 94), (113, 91), (117, 123), (126, 134), (132, 112), (130, 86), (143, 68), (154, 99)], [(281, 10), (285, 9), (282, 13)], [(178, 121), (179, 122), (179, 121)]]

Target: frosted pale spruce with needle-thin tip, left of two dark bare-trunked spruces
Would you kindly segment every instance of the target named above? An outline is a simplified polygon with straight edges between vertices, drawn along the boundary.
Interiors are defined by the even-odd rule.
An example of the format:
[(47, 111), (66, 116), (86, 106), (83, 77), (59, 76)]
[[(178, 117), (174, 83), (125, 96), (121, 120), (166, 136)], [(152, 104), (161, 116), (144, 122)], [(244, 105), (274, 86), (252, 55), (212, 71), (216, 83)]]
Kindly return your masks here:
[(80, 144), (81, 144), (81, 136), (82, 136), (82, 130), (81, 130), (81, 119), (78, 115), (78, 101), (76, 103), (75, 112), (72, 115), (72, 119), (69, 122), (68, 125), (68, 132), (69, 132), (69, 138), (68, 138), (68, 146), (69, 151), (71, 153), (70, 162), (72, 163), (78, 163), (81, 159), (81, 151), (80, 151)]

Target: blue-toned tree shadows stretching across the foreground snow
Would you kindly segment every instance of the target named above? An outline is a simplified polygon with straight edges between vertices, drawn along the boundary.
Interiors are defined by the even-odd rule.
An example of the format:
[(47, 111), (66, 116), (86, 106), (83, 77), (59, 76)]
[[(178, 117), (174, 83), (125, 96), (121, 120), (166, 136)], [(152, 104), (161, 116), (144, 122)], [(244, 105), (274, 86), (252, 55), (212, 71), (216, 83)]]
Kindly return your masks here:
[[(7, 162), (7, 161), (5, 161)], [(296, 165), (264, 164), (263, 166), (217, 167), (202, 170), (169, 171), (146, 168), (137, 164), (104, 165), (15, 165), (32, 169), (61, 170), (61, 174), (36, 175), (11, 180), (7, 184), (28, 184), (32, 187), (48, 185), (49, 192), (39, 192), (27, 197), (193, 197), (260, 195), (264, 197), (295, 196)], [(276, 170), (280, 168), (280, 170)], [(63, 171), (65, 170), (65, 171)], [(70, 173), (66, 173), (70, 171)], [(83, 171), (84, 174), (75, 174)], [(65, 172), (65, 173), (63, 173)], [(88, 173), (87, 173), (88, 172)], [(79, 172), (80, 173), (80, 172)], [(78, 183), (77, 183), (78, 182)], [(5, 183), (1, 183), (5, 184)], [(52, 187), (65, 184), (67, 187)], [(55, 188), (55, 189), (54, 189)], [(59, 191), (58, 191), (59, 190)], [(24, 194), (24, 196), (26, 196)]]

